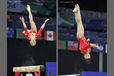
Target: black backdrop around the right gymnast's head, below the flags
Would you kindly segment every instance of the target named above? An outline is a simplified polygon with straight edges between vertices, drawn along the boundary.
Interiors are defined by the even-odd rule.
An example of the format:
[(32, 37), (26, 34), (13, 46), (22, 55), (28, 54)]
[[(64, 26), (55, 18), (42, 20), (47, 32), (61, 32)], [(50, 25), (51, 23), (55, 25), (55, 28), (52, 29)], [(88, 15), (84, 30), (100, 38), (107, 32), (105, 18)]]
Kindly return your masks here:
[[(59, 50), (59, 75), (80, 74), (81, 71), (99, 72), (99, 53), (91, 52), (91, 64), (86, 64), (83, 55), (76, 51)], [(107, 72), (107, 54), (103, 53), (103, 72)]]

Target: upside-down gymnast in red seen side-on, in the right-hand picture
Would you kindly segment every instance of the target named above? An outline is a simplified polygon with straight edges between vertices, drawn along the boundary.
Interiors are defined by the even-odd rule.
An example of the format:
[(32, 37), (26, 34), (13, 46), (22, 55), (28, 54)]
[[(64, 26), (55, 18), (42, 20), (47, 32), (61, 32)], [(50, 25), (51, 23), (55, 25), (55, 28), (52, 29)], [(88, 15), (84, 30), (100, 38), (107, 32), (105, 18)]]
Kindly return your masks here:
[(96, 44), (89, 43), (89, 41), (90, 41), (89, 38), (86, 40), (86, 38), (84, 36), (84, 27), (83, 27), (83, 23), (81, 20), (80, 7), (78, 4), (75, 4), (75, 8), (74, 8), (73, 12), (75, 13), (75, 20), (77, 23), (77, 39), (80, 42), (80, 51), (84, 55), (84, 59), (86, 60), (86, 63), (90, 64), (91, 47), (95, 47), (99, 50), (101, 50), (101, 48)]

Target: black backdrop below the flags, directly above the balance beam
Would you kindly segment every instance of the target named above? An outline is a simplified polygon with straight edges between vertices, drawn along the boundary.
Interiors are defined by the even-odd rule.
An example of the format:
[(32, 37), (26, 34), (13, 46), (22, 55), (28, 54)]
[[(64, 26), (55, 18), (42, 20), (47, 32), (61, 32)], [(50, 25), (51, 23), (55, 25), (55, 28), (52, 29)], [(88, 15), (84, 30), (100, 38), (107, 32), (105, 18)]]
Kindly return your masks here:
[[(7, 40), (8, 75), (13, 76), (12, 68), (30, 65), (45, 65), (46, 62), (56, 61), (56, 42), (37, 41), (35, 47), (31, 47), (28, 40)], [(42, 73), (45, 75), (45, 72)]]

